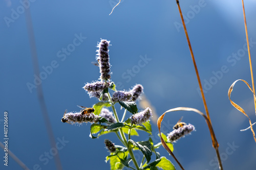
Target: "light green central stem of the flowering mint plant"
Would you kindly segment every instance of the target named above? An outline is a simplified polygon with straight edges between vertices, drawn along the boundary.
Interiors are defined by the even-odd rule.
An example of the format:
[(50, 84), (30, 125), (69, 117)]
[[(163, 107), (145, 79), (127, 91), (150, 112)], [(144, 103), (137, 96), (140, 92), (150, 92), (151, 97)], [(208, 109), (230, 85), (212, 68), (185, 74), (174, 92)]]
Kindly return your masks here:
[[(108, 96), (109, 96), (109, 100), (111, 101), (111, 96), (110, 96), (109, 92), (108, 92)], [(119, 119), (118, 119), (118, 116), (117, 116), (117, 113), (116, 113), (116, 108), (114, 106), (114, 103), (111, 103), (111, 107), (112, 107), (112, 110), (114, 112), (114, 116), (116, 118), (116, 122), (119, 123)], [(134, 157), (133, 150), (130, 148), (130, 144), (126, 140), (126, 137), (124, 135), (124, 132), (123, 132), (122, 128), (119, 128), (118, 130), (119, 130), (119, 133), (120, 133), (121, 137), (116, 132), (117, 133), (117, 137), (122, 141), (124, 146), (128, 149), (128, 152), (129, 152), (129, 154), (130, 154), (130, 156), (131, 156), (131, 158), (133, 160), (134, 165), (136, 166), (137, 170), (139, 170), (140, 167), (139, 167), (139, 165), (138, 165), (138, 163), (137, 163), (137, 161), (136, 161), (136, 159)]]

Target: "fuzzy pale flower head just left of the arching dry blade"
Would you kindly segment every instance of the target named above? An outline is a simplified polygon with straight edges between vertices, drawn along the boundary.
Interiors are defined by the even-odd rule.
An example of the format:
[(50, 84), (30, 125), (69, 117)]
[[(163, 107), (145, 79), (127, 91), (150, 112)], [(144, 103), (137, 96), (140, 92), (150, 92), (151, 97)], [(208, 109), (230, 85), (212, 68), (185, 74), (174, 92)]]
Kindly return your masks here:
[(145, 123), (147, 122), (148, 119), (150, 119), (151, 116), (152, 110), (149, 107), (147, 107), (145, 110), (133, 114), (131, 118), (131, 123), (135, 125)]

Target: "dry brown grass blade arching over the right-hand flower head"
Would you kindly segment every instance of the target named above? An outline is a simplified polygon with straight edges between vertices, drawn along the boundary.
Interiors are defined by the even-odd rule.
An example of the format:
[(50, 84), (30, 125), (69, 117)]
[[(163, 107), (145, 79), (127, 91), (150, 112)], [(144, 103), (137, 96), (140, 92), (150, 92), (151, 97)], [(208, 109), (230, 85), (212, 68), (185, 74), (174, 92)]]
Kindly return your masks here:
[(188, 107), (177, 107), (177, 108), (174, 108), (174, 109), (169, 109), (169, 110), (167, 110), (166, 112), (164, 112), (164, 113), (158, 118), (158, 120), (157, 120), (157, 127), (158, 127), (158, 130), (159, 130), (159, 134), (160, 134), (160, 139), (161, 139), (162, 145), (163, 145), (163, 147), (168, 151), (168, 153), (173, 156), (173, 158), (174, 158), (174, 159), (176, 160), (176, 162), (180, 165), (180, 167), (181, 167), (182, 169), (184, 169), (184, 168), (182, 167), (182, 165), (180, 164), (180, 162), (179, 162), (179, 161), (176, 159), (176, 157), (174, 156), (173, 152), (169, 149), (169, 147), (167, 146), (167, 144), (166, 144), (165, 141), (163, 140), (163, 138), (162, 138), (162, 136), (161, 136), (161, 131), (160, 131), (160, 129), (161, 129), (161, 123), (162, 123), (162, 120), (163, 120), (163, 117), (164, 117), (165, 113), (173, 112), (173, 111), (194, 111), (194, 112), (196, 112), (196, 113), (198, 113), (198, 114), (200, 114), (201, 116), (204, 117), (204, 119), (205, 119), (205, 121), (206, 121), (208, 127), (210, 127), (209, 130), (210, 130), (210, 134), (211, 134), (212, 138), (214, 138), (214, 140), (215, 140), (214, 143), (216, 143), (216, 145), (214, 145), (214, 148), (215, 148), (216, 153), (217, 153), (217, 158), (218, 158), (218, 161), (219, 161), (220, 169), (223, 169), (223, 168), (222, 168), (222, 163), (221, 163), (220, 154), (219, 154), (219, 150), (218, 150), (219, 144), (218, 144), (218, 141), (217, 141), (217, 139), (216, 139), (214, 130), (212, 129), (212, 126), (211, 126), (211, 124), (210, 124), (209, 119), (208, 119), (207, 116), (206, 116), (205, 114), (203, 114), (201, 111), (199, 111), (199, 110), (197, 110), (197, 109), (194, 109), (194, 108), (188, 108)]

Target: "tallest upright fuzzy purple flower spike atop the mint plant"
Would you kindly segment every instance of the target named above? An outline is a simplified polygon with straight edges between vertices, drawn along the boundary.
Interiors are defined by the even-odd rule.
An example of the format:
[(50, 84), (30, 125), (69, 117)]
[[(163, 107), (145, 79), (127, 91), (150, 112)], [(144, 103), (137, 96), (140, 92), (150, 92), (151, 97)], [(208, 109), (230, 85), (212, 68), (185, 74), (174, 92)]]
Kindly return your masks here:
[(99, 69), (100, 69), (100, 79), (101, 81), (110, 80), (111, 73), (110, 73), (110, 57), (109, 57), (109, 49), (110, 41), (102, 39), (97, 47), (99, 50), (96, 59), (99, 62)]

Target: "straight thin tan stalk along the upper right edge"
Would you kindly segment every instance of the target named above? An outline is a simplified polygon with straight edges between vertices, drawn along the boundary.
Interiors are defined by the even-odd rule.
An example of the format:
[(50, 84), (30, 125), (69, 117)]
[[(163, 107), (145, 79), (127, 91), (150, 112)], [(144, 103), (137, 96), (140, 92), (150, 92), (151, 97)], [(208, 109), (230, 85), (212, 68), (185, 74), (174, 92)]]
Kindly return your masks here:
[[(254, 80), (253, 80), (252, 66), (251, 66), (251, 53), (250, 53), (249, 37), (248, 37), (248, 32), (247, 32), (247, 24), (246, 24), (245, 9), (244, 9), (244, 0), (242, 0), (242, 5), (243, 5), (243, 14), (244, 14), (244, 27), (245, 27), (248, 55), (249, 55), (252, 90), (253, 90), (253, 93), (255, 94)], [(255, 96), (253, 96), (253, 99), (254, 99), (254, 107), (255, 107), (255, 114), (256, 114), (256, 98), (255, 98)]]

